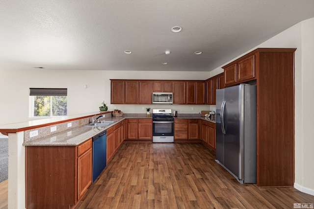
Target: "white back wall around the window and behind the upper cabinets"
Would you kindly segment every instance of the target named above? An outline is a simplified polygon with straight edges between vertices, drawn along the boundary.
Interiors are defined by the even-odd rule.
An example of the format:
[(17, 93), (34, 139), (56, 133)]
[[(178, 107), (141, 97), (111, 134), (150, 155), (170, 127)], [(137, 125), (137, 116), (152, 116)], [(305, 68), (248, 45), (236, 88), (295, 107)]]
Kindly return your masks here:
[[(199, 113), (209, 105), (111, 105), (109, 79), (204, 80), (209, 72), (185, 71), (101, 71), (101, 70), (0, 70), (0, 124), (28, 120), (29, 88), (67, 88), (68, 115), (99, 111), (105, 101), (125, 113), (146, 113), (143, 107), (170, 108), (178, 113)], [(87, 85), (87, 89), (84, 89)], [(192, 107), (194, 110), (192, 110)]]

